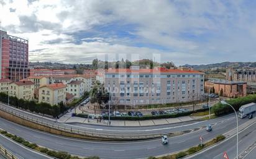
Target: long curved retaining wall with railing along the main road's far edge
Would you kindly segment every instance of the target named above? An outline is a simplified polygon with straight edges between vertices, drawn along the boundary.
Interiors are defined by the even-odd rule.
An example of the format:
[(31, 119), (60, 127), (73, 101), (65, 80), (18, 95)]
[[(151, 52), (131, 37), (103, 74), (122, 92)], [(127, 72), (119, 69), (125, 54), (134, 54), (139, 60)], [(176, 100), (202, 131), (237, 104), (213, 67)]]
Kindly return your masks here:
[(69, 132), (71, 134), (78, 134), (78, 135), (85, 135), (88, 137), (95, 137), (95, 138), (101, 138), (101, 139), (119, 139), (119, 140), (139, 140), (139, 139), (152, 139), (155, 137), (160, 137), (162, 134), (155, 133), (147, 131), (143, 132), (118, 132), (118, 131), (112, 131), (111, 133), (109, 131), (102, 131), (101, 129), (82, 129), (74, 126), (66, 126), (62, 123), (50, 121), (47, 119), (40, 119), (38, 117), (29, 115), (29, 114), (21, 114), (14, 108), (8, 107), (6, 105), (0, 104), (0, 110), (5, 111), (6, 113), (12, 114), (14, 116), (17, 116), (19, 118), (25, 119), (30, 122), (34, 122), (36, 124), (40, 124), (42, 126), (47, 126), (52, 129), (57, 129), (59, 131), (63, 132)]

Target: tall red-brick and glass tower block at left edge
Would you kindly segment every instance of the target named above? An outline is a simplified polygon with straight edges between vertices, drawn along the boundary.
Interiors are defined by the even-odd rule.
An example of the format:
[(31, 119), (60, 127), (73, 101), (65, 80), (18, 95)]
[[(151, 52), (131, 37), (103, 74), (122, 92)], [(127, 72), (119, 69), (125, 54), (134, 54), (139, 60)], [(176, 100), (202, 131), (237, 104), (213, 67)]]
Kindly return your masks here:
[(29, 76), (29, 41), (0, 30), (0, 79), (19, 81)]

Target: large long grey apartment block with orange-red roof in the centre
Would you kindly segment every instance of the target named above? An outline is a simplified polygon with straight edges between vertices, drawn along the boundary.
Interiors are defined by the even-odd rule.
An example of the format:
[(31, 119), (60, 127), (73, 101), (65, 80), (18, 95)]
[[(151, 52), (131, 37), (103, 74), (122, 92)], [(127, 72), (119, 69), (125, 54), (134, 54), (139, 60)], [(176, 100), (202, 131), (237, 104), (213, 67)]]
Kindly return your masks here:
[[(204, 93), (204, 73), (166, 69), (108, 69), (105, 87), (117, 105), (150, 105), (199, 100)], [(114, 100), (114, 101), (113, 101)]]

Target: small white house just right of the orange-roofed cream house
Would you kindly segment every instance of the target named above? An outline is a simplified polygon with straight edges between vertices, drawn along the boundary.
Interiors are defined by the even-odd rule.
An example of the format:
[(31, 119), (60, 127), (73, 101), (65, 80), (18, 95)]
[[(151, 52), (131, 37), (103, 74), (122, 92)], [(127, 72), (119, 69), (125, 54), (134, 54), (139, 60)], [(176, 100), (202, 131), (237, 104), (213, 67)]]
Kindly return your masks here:
[(81, 98), (85, 93), (85, 82), (82, 80), (72, 80), (67, 86), (67, 92), (74, 95), (74, 98)]

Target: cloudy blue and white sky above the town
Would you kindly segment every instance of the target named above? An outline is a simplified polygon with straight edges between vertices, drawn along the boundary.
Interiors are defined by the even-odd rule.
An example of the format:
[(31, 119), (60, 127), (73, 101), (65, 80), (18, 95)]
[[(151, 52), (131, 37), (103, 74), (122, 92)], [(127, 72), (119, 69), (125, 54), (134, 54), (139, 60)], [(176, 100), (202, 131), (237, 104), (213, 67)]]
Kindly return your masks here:
[(256, 60), (256, 1), (0, 0), (2, 30), (32, 62)]

